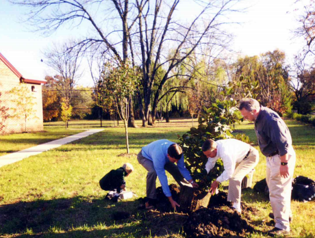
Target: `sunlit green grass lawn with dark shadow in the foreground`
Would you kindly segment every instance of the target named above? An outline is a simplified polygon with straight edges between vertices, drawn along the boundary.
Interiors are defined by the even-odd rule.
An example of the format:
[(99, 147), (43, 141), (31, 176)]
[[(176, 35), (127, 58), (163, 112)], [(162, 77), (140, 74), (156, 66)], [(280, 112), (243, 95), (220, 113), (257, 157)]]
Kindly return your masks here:
[[(118, 156), (126, 152), (125, 129), (122, 124), (114, 128), (113, 122), (104, 123), (104, 131), (100, 133), (0, 168), (0, 237), (185, 237), (182, 226), (186, 215), (161, 215), (137, 209), (137, 199), (145, 196), (147, 172), (138, 164), (136, 154), (142, 146), (154, 140), (166, 138), (179, 142), (177, 134), (182, 135), (188, 131), (191, 120), (171, 120), (170, 124), (162, 122), (155, 127), (129, 129), (129, 146), (134, 154), (131, 157)], [(314, 128), (292, 120), (286, 123), (290, 127), (297, 152), (294, 177), (303, 175), (315, 180)], [(141, 122), (137, 121), (137, 124), (140, 125)], [(79, 132), (66, 131), (62, 127), (63, 124), (58, 122), (47, 124), (47, 137), (56, 136), (58, 139), (62, 133)], [(79, 121), (70, 124), (70, 129), (86, 127), (99, 127), (99, 122)], [(247, 133), (256, 142), (253, 124), (245, 123), (236, 129)], [(23, 137), (25, 145), (41, 144), (42, 142), (37, 143), (36, 138), (44, 140), (45, 133), (42, 133), (42, 137), (36, 137), (36, 134), (34, 137), (33, 134), (26, 134), (29, 137)], [(8, 135), (10, 136), (13, 135)], [(7, 143), (5, 137), (7, 135), (0, 137), (1, 144)], [(18, 139), (11, 137), (8, 140), (4, 153), (21, 149), (14, 147), (12, 142), (15, 140)], [(3, 148), (1, 153), (2, 150)], [(253, 184), (265, 177), (265, 158), (262, 154), (260, 156)], [(124, 162), (134, 165), (135, 172), (126, 181), (127, 189), (134, 191), (138, 198), (112, 203), (104, 199), (106, 192), (99, 187), (99, 179)], [(169, 178), (169, 183), (175, 183), (173, 178)], [(158, 182), (157, 186), (160, 186)], [(264, 237), (260, 231), (272, 228), (265, 224), (270, 220), (268, 213), (271, 207), (268, 200), (251, 189), (242, 195), (243, 202), (258, 209), (258, 212), (251, 215), (252, 225), (257, 230), (251, 237)], [(128, 211), (131, 217), (115, 222), (112, 214), (116, 211)], [(292, 211), (292, 237), (314, 237), (314, 202), (293, 201)]]

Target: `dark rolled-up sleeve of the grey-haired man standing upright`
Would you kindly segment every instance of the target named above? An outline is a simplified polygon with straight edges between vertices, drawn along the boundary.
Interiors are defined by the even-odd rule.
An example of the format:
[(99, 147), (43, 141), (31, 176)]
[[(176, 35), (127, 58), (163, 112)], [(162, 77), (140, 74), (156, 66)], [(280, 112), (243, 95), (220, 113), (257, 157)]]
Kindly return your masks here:
[(270, 140), (277, 145), (279, 155), (286, 155), (292, 141), (286, 133), (286, 125), (283, 125), (279, 120), (270, 120), (268, 132), (270, 133)]

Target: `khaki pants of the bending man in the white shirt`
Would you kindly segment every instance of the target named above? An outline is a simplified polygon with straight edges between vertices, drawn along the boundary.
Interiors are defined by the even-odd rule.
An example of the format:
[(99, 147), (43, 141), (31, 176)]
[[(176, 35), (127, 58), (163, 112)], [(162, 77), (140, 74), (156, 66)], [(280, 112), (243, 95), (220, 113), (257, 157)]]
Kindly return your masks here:
[(227, 200), (230, 202), (240, 203), (241, 185), (244, 176), (249, 174), (255, 166), (257, 166), (260, 160), (260, 155), (258, 151), (251, 147), (251, 151), (247, 159), (243, 159), (242, 162), (236, 167), (234, 174), (229, 179), (229, 192), (227, 195)]

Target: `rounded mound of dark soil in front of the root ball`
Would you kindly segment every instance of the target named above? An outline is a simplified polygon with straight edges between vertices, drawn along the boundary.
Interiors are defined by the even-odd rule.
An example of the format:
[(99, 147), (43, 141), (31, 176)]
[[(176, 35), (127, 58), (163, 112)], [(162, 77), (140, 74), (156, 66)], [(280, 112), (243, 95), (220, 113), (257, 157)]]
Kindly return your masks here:
[(246, 237), (253, 232), (246, 220), (229, 207), (202, 208), (184, 224), (188, 237)]

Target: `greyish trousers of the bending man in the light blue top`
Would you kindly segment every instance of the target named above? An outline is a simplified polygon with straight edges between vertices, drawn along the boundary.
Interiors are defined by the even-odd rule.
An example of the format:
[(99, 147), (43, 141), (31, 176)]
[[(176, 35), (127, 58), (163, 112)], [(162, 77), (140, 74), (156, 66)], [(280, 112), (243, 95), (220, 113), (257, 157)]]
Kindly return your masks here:
[[(155, 172), (155, 168), (153, 166), (153, 161), (150, 159), (147, 159), (142, 156), (142, 150), (140, 150), (140, 153), (138, 153), (137, 156), (138, 162), (140, 165), (142, 165), (147, 171), (147, 198), (156, 199), (156, 177), (157, 174)], [(181, 175), (181, 172), (179, 171), (178, 167), (175, 166), (174, 163), (166, 163), (164, 166), (164, 169), (169, 172), (174, 178), (175, 181), (181, 186), (181, 183), (189, 184), (188, 181), (184, 178), (183, 175)]]

